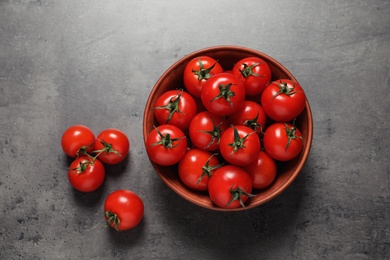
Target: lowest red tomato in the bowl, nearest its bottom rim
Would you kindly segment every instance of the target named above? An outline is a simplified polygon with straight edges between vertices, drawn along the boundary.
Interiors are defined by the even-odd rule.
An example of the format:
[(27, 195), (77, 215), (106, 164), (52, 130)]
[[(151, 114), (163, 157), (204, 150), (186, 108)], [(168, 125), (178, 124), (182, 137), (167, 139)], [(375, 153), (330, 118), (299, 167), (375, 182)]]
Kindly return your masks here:
[(238, 208), (253, 197), (252, 179), (241, 167), (225, 165), (217, 169), (209, 181), (210, 199), (221, 208)]

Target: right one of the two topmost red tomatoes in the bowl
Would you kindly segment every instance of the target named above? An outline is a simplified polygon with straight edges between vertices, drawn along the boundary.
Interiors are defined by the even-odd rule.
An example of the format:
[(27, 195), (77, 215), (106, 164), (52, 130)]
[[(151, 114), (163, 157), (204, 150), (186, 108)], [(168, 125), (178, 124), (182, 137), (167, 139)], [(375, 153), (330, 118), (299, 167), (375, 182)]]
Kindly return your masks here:
[(242, 80), (248, 96), (260, 95), (271, 81), (270, 67), (263, 59), (257, 57), (240, 60), (233, 67), (232, 73)]

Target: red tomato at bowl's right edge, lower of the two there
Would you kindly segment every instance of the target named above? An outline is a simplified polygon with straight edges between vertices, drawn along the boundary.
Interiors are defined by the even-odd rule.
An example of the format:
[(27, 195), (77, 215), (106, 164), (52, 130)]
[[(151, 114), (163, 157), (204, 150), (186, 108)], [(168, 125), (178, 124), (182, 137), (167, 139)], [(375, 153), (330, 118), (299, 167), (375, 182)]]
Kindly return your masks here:
[(264, 133), (264, 150), (275, 160), (289, 161), (302, 150), (303, 138), (298, 128), (290, 123), (273, 123)]

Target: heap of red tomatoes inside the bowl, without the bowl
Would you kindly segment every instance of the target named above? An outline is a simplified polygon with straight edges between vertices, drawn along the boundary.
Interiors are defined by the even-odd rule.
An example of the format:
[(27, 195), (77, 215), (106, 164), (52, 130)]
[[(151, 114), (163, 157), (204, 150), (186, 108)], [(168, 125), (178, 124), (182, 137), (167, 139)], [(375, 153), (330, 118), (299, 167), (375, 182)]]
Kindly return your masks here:
[(149, 158), (177, 165), (190, 189), (208, 192), (219, 207), (245, 207), (245, 201), (272, 185), (278, 162), (303, 148), (295, 119), (306, 96), (298, 82), (272, 80), (269, 64), (247, 57), (224, 70), (209, 56), (188, 62), (183, 87), (154, 104), (158, 125), (146, 139)]

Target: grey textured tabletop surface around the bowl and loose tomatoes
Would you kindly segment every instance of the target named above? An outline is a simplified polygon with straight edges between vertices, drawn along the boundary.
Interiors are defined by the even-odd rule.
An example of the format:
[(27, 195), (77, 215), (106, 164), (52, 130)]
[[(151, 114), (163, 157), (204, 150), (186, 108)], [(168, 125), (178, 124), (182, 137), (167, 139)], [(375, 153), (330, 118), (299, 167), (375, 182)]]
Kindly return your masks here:
[[(192, 205), (153, 171), (142, 115), (158, 77), (197, 49), (269, 54), (306, 90), (314, 139), (275, 200), (237, 213)], [(390, 255), (390, 2), (0, 0), (1, 259), (385, 259)], [(73, 124), (130, 138), (104, 186), (69, 185)], [(105, 197), (137, 192), (118, 233)]]

